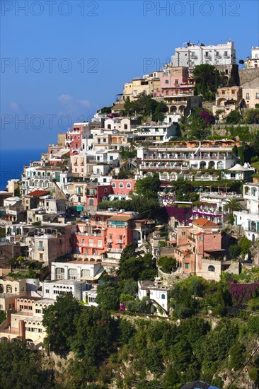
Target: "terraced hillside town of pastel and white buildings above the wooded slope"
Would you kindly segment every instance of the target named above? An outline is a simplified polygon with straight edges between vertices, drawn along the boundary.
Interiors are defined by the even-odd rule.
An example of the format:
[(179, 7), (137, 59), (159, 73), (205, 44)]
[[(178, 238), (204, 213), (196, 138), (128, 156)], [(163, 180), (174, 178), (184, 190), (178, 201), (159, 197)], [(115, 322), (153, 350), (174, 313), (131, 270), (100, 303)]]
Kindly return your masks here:
[[(61, 296), (120, 318), (259, 319), (258, 64), (259, 47), (238, 69), (234, 42), (188, 42), (8, 181), (0, 192), (1, 340), (45, 349), (44, 313)], [(193, 279), (200, 286), (187, 313), (192, 304), (179, 308), (175, 291), (183, 304)], [(219, 310), (201, 285), (218, 293), (222, 280), (231, 291), (253, 286), (257, 303), (231, 292)], [(203, 387), (223, 388), (215, 382)]]

